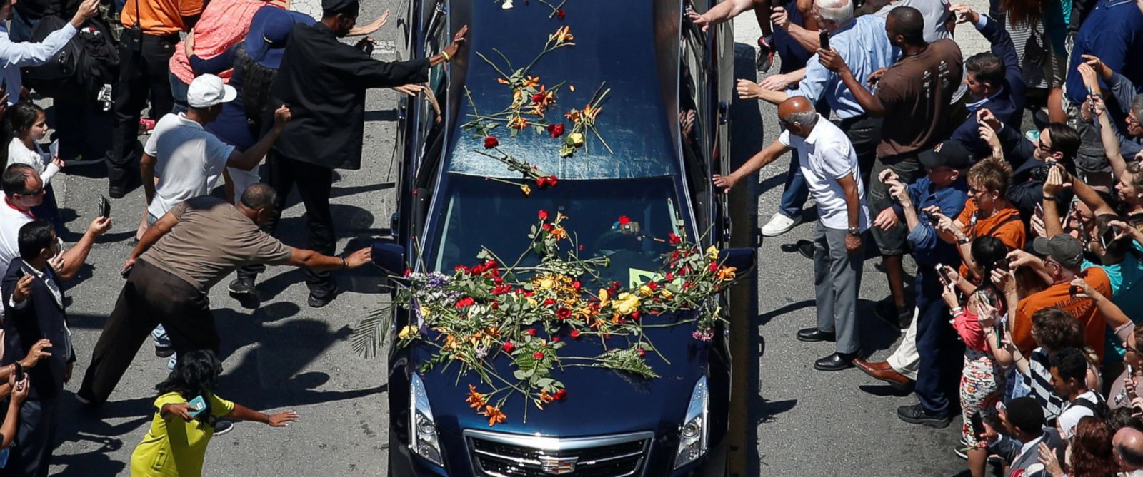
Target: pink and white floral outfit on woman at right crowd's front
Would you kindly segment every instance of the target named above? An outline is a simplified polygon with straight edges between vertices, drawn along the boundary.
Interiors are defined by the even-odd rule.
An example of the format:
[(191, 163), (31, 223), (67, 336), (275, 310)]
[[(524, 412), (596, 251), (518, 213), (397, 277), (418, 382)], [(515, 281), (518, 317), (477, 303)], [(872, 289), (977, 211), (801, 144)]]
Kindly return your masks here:
[(960, 374), (960, 412), (964, 425), (960, 434), (969, 448), (984, 448), (986, 443), (977, 440), (973, 432), (972, 417), (981, 414), (985, 421), (994, 422), (996, 404), (1004, 397), (1004, 369), (992, 358), (976, 315), (960, 312), (953, 317), (952, 325), (965, 341), (965, 367)]

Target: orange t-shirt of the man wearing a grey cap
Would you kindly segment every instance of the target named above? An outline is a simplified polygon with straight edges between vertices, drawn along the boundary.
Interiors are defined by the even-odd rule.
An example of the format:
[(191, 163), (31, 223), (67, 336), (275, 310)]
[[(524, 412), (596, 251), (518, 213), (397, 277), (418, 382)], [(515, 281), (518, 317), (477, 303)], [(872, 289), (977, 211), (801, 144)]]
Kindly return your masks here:
[[(1085, 268), (1079, 276), (1100, 294), (1111, 298), (1111, 281), (1108, 280), (1103, 268)], [(1103, 359), (1104, 330), (1108, 323), (1096, 308), (1095, 300), (1072, 298), (1068, 293), (1069, 288), (1068, 283), (1057, 283), (1020, 300), (1020, 305), (1016, 306), (1016, 321), (1012, 323), (1012, 339), (1021, 353), (1028, 355), (1036, 348), (1036, 340), (1032, 339), (1032, 314), (1044, 308), (1060, 308), (1084, 323), (1084, 341), (1095, 350), (1100, 359)]]

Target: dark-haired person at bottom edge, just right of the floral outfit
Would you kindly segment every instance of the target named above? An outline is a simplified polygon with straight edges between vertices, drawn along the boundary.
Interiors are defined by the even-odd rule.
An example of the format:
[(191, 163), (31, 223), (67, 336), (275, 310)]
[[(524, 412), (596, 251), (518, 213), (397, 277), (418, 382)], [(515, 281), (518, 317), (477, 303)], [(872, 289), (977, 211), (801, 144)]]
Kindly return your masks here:
[[(1008, 464), (1008, 476), (1042, 477), (1040, 471), (1034, 475), (1018, 472), (1028, 471), (1028, 467), (1039, 462), (1038, 447), (1044, 443), (1056, 454), (1060, 462), (1064, 461), (1064, 443), (1055, 428), (1044, 427), (1044, 409), (1032, 397), (1017, 397), (1008, 402), (1007, 409), (1000, 413), (1007, 437), (1001, 437), (985, 423), (985, 439), (992, 451)], [(1020, 443), (1013, 442), (1013, 439)]]

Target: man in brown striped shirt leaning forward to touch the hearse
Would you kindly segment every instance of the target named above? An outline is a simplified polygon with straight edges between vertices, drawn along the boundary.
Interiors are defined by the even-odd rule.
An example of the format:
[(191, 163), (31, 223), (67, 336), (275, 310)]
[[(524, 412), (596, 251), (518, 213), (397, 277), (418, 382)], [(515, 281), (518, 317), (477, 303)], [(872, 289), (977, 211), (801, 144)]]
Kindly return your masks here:
[[(291, 265), (317, 269), (357, 268), (369, 248), (346, 258), (287, 246), (258, 226), (273, 213), (274, 191), (255, 184), (239, 204), (200, 196), (170, 209), (135, 245), (123, 274), (127, 283), (103, 326), (78, 396), (103, 403), (114, 390), (139, 346), (162, 324), (177, 356), (197, 349), (218, 353), (210, 288), (241, 265)], [(153, 245), (153, 246), (152, 246)]]

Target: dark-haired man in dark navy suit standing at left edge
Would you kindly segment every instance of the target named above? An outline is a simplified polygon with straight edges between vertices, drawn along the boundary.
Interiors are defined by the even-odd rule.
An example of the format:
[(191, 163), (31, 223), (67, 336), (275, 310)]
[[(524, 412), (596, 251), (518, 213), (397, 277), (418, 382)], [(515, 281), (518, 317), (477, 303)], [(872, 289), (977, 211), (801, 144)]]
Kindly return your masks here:
[(5, 349), (0, 363), (13, 364), (17, 374), (25, 371), (32, 386), (19, 410), (19, 429), (5, 466), (13, 475), (48, 475), (59, 394), (71, 379), (75, 362), (63, 289), (48, 265), (48, 259), (58, 253), (51, 224), (27, 223), (19, 228), (19, 257), (8, 264), (0, 282), (5, 308)]

